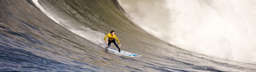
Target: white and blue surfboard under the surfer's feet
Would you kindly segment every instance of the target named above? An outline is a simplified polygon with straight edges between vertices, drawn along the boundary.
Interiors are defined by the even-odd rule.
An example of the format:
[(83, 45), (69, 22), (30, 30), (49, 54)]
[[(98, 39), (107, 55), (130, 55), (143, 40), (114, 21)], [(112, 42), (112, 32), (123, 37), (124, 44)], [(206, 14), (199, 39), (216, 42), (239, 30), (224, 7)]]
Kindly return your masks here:
[(129, 56), (129, 57), (141, 57), (142, 56), (142, 55), (134, 54), (134, 53), (131, 53), (131, 52), (126, 52), (126, 51), (123, 51), (123, 50), (121, 50), (121, 52), (118, 52), (117, 49), (112, 48), (112, 47), (109, 47), (108, 50), (112, 51), (112, 52), (115, 52), (117, 54), (120, 54), (120, 55)]

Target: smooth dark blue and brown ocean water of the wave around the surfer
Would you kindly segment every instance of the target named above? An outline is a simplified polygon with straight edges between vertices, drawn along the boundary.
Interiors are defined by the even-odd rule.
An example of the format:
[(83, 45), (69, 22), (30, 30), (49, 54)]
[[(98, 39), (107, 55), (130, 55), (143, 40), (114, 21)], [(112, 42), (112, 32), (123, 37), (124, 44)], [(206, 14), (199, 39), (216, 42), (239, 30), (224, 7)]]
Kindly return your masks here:
[[(0, 1), (1, 72), (255, 72), (155, 37), (116, 0)], [(103, 48), (115, 31), (127, 57)], [(116, 48), (113, 44), (113, 48)]]

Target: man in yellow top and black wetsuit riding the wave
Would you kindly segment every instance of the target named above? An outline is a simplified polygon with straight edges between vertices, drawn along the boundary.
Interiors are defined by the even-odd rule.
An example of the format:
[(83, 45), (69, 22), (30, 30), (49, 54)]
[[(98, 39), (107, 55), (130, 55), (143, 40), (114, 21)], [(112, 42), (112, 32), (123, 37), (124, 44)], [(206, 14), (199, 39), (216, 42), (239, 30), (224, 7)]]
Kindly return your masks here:
[[(108, 41), (106, 40), (106, 38), (108, 37)], [(115, 35), (115, 31), (111, 31), (110, 33), (108, 33), (105, 37), (104, 37), (104, 40), (106, 41), (106, 43), (108, 43), (108, 47), (110, 46), (111, 43), (114, 43), (116, 45), (116, 47), (118, 48), (118, 52), (121, 52), (120, 51), (120, 48), (117, 46), (116, 44), (116, 41), (118, 42), (119, 46), (121, 47), (121, 44), (119, 42), (119, 40), (116, 38), (116, 35)], [(108, 49), (107, 47), (107, 49)]]

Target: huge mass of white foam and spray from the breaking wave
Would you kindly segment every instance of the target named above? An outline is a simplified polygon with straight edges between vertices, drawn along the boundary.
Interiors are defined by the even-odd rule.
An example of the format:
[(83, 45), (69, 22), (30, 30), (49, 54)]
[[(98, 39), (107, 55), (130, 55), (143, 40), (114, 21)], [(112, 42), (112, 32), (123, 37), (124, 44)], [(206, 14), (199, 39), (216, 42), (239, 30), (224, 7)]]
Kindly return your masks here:
[(256, 63), (256, 2), (119, 0), (148, 33), (184, 49)]

